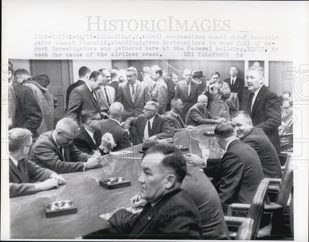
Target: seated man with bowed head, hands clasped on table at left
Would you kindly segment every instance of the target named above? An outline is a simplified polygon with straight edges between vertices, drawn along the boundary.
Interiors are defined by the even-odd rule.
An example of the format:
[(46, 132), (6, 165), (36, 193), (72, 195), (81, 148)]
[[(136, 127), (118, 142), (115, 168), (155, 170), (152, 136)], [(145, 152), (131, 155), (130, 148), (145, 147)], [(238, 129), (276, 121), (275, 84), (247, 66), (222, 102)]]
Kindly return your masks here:
[(60, 119), (56, 129), (41, 134), (34, 143), (30, 160), (58, 173), (84, 171), (98, 166), (100, 158), (81, 152), (73, 144), (78, 134), (74, 119)]

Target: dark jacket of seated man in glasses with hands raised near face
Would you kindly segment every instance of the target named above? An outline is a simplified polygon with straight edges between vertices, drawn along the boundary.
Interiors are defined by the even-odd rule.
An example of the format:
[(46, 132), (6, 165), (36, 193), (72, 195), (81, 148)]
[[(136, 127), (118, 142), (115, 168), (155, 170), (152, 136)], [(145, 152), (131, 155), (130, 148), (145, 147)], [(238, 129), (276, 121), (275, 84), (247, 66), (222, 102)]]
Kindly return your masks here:
[(95, 150), (99, 150), (99, 146), (101, 144), (102, 136), (99, 130), (93, 133), (93, 138), (95, 139), (95, 143), (91, 139), (85, 127), (81, 127), (73, 142), (76, 148), (78, 148), (81, 152), (93, 155)]

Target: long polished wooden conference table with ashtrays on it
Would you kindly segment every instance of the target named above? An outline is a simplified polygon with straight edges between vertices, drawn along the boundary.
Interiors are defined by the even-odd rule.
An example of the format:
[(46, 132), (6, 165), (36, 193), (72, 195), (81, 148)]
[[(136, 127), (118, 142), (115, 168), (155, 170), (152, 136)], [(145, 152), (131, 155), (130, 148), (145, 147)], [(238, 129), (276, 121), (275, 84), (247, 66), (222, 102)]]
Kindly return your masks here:
[[(201, 145), (208, 145), (210, 158), (222, 156), (214, 137), (204, 136), (216, 125), (201, 125), (194, 130), (175, 134), (175, 145), (184, 145), (189, 151), (201, 156)], [(10, 237), (15, 239), (74, 239), (108, 227), (109, 223), (99, 215), (117, 207), (129, 207), (129, 199), (140, 190), (142, 144), (128, 148), (133, 154), (104, 156), (95, 169), (66, 173), (64, 185), (33, 195), (10, 198)], [(131, 186), (107, 190), (99, 186), (99, 180), (108, 177), (125, 177)], [(77, 205), (76, 214), (46, 218), (44, 205), (60, 200), (71, 200)]]

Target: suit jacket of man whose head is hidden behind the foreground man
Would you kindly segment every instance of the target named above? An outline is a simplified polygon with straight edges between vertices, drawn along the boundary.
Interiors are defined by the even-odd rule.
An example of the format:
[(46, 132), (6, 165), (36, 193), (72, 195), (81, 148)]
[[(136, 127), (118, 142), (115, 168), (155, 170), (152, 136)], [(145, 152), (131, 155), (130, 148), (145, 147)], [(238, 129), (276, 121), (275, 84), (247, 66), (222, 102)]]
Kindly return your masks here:
[(181, 188), (188, 192), (197, 206), (203, 239), (230, 239), (219, 195), (209, 178), (198, 169), (187, 165), (187, 174), (182, 181)]

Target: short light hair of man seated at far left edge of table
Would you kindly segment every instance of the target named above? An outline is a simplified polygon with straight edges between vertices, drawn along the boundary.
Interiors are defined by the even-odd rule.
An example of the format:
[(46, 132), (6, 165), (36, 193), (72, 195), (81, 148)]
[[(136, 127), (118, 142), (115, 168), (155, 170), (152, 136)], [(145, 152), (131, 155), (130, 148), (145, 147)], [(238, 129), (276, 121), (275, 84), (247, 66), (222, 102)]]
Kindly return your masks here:
[(23, 149), (29, 136), (32, 136), (32, 133), (28, 129), (13, 128), (9, 130), (9, 152), (17, 152)]

